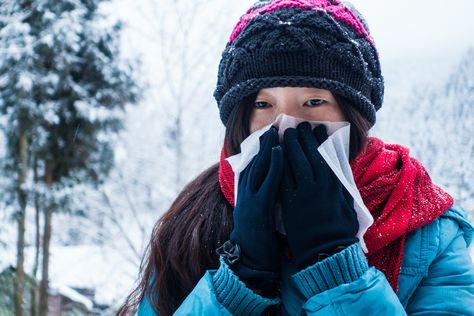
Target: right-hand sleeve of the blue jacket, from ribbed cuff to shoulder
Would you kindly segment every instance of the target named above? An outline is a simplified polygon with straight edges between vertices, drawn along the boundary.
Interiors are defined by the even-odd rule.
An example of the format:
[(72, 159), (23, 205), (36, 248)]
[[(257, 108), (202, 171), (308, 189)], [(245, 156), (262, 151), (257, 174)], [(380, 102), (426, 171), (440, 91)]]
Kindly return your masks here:
[[(406, 308), (358, 243), (292, 276), (308, 315), (474, 315), (472, 226), (460, 213), (437, 220), (438, 251)], [(453, 214), (457, 217), (453, 220)]]

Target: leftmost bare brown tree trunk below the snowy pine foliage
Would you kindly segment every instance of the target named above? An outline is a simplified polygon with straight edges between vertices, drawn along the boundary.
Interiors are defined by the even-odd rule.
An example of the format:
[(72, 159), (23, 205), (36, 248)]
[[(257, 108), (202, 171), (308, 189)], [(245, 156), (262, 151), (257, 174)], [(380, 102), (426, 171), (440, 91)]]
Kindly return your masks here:
[(18, 242), (17, 242), (17, 263), (16, 263), (16, 277), (15, 277), (15, 315), (23, 316), (23, 293), (25, 288), (25, 270), (23, 267), (25, 261), (25, 212), (27, 203), (27, 193), (24, 185), (26, 182), (26, 175), (28, 170), (28, 141), (24, 132), (20, 131), (18, 141), (19, 152), (19, 170), (18, 170)]

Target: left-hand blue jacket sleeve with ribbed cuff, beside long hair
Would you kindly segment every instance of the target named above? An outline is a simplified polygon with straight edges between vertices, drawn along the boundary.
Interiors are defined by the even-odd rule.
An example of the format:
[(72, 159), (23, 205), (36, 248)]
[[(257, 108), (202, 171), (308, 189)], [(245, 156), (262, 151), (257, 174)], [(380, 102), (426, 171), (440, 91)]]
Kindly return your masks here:
[[(173, 315), (261, 315), (279, 301), (248, 289), (220, 258), (219, 269), (206, 271)], [(142, 300), (138, 316), (154, 315), (148, 301)]]

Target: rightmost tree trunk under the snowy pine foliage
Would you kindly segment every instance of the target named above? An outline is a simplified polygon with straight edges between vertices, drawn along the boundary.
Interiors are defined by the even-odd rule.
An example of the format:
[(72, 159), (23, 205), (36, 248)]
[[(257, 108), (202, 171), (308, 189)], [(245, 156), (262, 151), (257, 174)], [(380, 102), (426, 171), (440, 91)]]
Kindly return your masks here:
[[(53, 170), (54, 161), (49, 159), (46, 161), (45, 181), (49, 193), (52, 194), (53, 186)], [(49, 199), (48, 199), (49, 200)], [(46, 201), (44, 207), (44, 232), (43, 232), (43, 275), (40, 283), (40, 302), (39, 302), (39, 316), (46, 316), (48, 313), (48, 269), (49, 269), (49, 242), (51, 240), (51, 217), (53, 206), (50, 201)]]

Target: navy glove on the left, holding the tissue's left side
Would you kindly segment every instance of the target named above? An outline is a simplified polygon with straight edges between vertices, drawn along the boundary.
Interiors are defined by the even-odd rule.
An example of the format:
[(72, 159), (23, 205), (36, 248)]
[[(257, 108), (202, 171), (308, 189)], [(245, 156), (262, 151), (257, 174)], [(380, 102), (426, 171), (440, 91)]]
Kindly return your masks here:
[(278, 279), (274, 206), (282, 174), (283, 150), (276, 128), (271, 127), (260, 137), (258, 154), (239, 178), (230, 240), (240, 247), (240, 258), (231, 268), (244, 282), (257, 280), (261, 284), (265, 279), (270, 283)]

